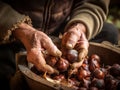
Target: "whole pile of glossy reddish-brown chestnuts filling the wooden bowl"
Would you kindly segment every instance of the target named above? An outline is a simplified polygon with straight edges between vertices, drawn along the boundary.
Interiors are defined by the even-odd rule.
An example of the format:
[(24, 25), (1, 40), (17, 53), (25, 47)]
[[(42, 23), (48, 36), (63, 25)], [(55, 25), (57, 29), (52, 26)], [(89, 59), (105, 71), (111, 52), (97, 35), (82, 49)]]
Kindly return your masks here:
[(74, 69), (71, 64), (78, 61), (78, 52), (74, 49), (65, 51), (62, 57), (47, 55), (45, 59), (59, 71), (48, 76), (75, 90), (120, 90), (120, 65), (104, 66), (97, 54), (87, 56), (83, 64)]

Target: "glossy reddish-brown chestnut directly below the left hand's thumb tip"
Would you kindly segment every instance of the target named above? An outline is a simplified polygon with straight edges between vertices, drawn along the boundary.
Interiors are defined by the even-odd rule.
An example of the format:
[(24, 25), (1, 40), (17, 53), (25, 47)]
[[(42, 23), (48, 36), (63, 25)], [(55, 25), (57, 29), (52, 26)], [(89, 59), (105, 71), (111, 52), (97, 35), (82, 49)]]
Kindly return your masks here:
[(69, 62), (61, 57), (60, 60), (57, 61), (56, 67), (60, 72), (67, 71), (69, 67)]

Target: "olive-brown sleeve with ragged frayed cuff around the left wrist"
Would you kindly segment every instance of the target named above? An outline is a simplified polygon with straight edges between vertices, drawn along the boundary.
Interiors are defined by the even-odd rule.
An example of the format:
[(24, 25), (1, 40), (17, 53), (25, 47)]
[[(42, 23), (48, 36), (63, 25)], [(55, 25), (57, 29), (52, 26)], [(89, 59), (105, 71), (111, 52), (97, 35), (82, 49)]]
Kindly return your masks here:
[(0, 1), (0, 44), (13, 41), (12, 31), (22, 22), (31, 25), (28, 16), (18, 13), (11, 6)]

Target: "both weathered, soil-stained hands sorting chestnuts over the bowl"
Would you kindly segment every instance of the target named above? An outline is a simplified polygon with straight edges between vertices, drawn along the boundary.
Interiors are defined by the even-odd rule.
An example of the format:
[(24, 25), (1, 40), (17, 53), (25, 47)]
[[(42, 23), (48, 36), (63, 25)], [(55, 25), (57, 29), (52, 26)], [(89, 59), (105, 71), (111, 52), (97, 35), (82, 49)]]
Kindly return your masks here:
[[(88, 53), (88, 40), (85, 36), (86, 29), (83, 24), (72, 25), (67, 29), (62, 38), (62, 45), (67, 49), (72, 49), (77, 45), (79, 52), (79, 62), (73, 63), (73, 67), (80, 66), (83, 58)], [(38, 70), (49, 74), (55, 73), (56, 70), (46, 64), (43, 50), (53, 56), (60, 57), (62, 52), (54, 45), (50, 37), (45, 33), (34, 29), (33, 27), (22, 23), (19, 28), (13, 31), (13, 35), (19, 39), (27, 50), (27, 60), (35, 65)]]

